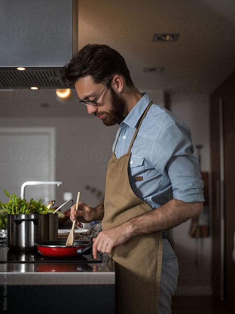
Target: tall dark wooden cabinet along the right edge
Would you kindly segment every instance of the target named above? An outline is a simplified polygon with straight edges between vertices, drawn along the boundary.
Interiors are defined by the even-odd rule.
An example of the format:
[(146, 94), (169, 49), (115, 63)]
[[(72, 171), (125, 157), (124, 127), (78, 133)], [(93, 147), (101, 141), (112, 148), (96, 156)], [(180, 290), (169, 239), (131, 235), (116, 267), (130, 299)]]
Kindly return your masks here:
[(234, 301), (235, 73), (210, 96), (212, 289)]

